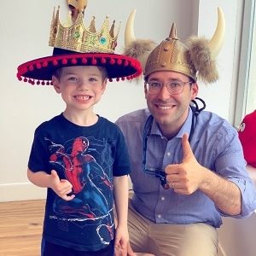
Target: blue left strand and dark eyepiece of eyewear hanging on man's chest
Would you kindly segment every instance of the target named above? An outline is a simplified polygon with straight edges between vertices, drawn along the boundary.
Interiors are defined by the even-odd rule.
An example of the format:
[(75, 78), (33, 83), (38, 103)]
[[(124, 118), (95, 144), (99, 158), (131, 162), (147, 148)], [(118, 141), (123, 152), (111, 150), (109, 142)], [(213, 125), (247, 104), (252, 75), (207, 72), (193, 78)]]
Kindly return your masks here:
[[(148, 125), (148, 122), (150, 121), (150, 126), (148, 129), (148, 133), (146, 135), (145, 128)], [(153, 123), (153, 116), (149, 116), (146, 125), (143, 130), (143, 172), (149, 174), (149, 175), (154, 175), (155, 177), (160, 178), (160, 183), (164, 189), (170, 189), (169, 184), (166, 181), (166, 172), (162, 168), (147, 168), (147, 145), (148, 145), (148, 137), (151, 134), (151, 129), (152, 129), (152, 123)]]

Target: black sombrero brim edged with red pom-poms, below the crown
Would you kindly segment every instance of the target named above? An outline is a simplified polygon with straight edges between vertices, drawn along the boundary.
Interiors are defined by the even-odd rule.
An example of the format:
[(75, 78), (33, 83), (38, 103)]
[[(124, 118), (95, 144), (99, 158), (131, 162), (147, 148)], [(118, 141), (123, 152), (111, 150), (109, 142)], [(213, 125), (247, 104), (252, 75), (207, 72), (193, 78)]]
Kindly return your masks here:
[[(63, 51), (63, 49), (61, 49)], [(101, 66), (108, 72), (109, 81), (134, 79), (142, 73), (139, 61), (125, 55), (104, 53), (75, 53), (52, 55), (27, 61), (18, 67), (17, 78), (30, 84), (51, 84), (56, 69), (71, 66)]]

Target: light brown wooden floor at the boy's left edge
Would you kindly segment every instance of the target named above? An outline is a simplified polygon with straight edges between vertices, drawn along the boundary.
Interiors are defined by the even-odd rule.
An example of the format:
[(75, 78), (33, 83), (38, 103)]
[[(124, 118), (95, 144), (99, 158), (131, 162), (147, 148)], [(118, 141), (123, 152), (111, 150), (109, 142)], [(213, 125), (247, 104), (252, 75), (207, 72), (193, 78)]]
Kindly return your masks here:
[(0, 255), (39, 256), (44, 200), (0, 202)]

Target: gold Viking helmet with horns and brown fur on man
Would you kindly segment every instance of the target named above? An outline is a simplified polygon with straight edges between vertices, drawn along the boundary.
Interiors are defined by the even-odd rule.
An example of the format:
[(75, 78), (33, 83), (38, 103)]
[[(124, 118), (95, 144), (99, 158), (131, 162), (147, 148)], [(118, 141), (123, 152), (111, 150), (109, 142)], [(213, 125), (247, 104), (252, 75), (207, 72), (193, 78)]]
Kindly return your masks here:
[[(133, 11), (125, 27), (125, 55), (136, 57), (140, 61), (142, 39), (136, 39), (133, 33), (133, 21), (135, 12)], [(224, 43), (225, 21), (224, 14), (218, 8), (218, 25), (211, 40), (190, 36), (185, 43), (177, 38), (175, 23), (169, 37), (162, 41), (154, 49), (144, 51), (147, 53), (147, 61), (142, 63), (144, 79), (148, 75), (157, 71), (174, 71), (189, 76), (194, 81), (197, 78), (206, 83), (213, 83), (218, 79), (218, 71), (215, 58)], [(137, 51), (135, 45), (140, 45)], [(132, 49), (132, 51), (131, 51)], [(136, 54), (135, 54), (136, 53)], [(145, 57), (144, 57), (145, 58)]]

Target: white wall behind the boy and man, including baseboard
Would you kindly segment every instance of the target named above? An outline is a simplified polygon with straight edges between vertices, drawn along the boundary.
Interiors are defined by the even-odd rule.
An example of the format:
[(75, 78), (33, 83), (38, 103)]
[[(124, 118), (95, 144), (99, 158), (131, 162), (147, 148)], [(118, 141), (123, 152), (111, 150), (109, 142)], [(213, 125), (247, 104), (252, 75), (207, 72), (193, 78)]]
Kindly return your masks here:
[[(97, 28), (102, 25), (106, 15), (110, 16), (110, 20), (122, 20), (116, 51), (120, 53), (124, 45), (125, 20), (132, 9), (137, 9), (137, 38), (151, 38), (160, 43), (169, 35), (172, 22), (177, 23), (179, 38), (196, 33), (197, 27), (201, 35), (211, 38), (217, 22), (217, 6), (221, 6), (227, 22), (227, 36), (218, 58), (220, 80), (217, 84), (202, 84), (200, 96), (206, 100), (207, 109), (229, 119), (237, 1), (89, 0), (84, 23), (88, 26), (92, 15), (96, 15)], [(26, 178), (27, 159), (35, 128), (45, 119), (61, 113), (64, 104), (50, 86), (32, 86), (19, 82), (15, 75), (16, 68), (21, 63), (51, 55), (52, 49), (48, 46), (48, 41), (53, 7), (61, 5), (61, 19), (64, 22), (67, 15), (66, 2), (13, 0), (12, 6), (15, 8), (12, 9), (8, 1), (1, 3), (0, 201), (38, 199), (45, 196), (45, 189), (36, 188)], [(95, 111), (114, 121), (123, 113), (145, 106), (143, 84), (119, 82), (108, 84), (108, 90), (96, 105)]]

